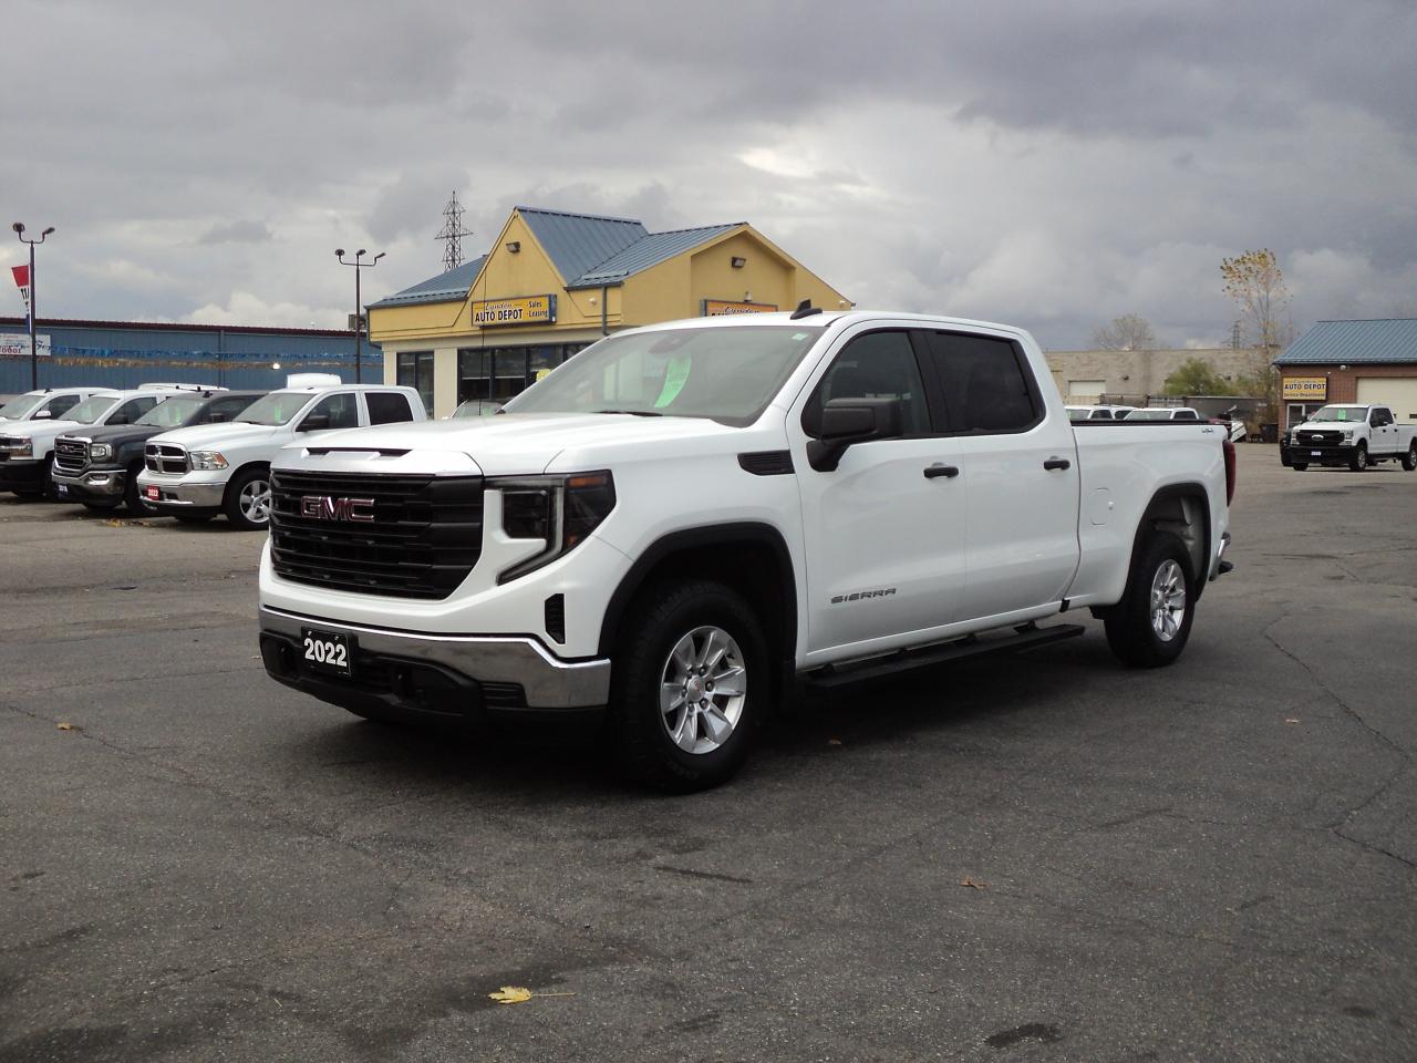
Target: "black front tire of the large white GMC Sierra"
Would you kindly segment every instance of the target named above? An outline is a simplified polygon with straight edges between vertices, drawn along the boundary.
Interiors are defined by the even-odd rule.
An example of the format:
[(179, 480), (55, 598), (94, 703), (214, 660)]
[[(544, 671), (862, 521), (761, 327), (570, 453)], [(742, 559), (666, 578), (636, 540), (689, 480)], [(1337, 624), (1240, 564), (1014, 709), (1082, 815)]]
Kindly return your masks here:
[[(628, 617), (631, 619), (621, 629), (611, 673), (609, 740), (614, 758), (631, 780), (673, 794), (690, 794), (726, 782), (747, 760), (768, 709), (768, 655), (752, 607), (730, 587), (686, 580), (649, 588)], [(674, 707), (662, 709), (663, 680), (682, 665), (679, 658), (672, 660), (670, 655), (687, 639), (690, 662), (700, 646), (703, 658), (708, 658), (711, 646), (707, 634), (700, 632), (710, 631), (731, 639), (735, 652), (726, 652), (720, 660), (731, 665), (735, 659), (741, 666), (741, 700), (735, 700), (738, 694), (723, 690), (724, 675), (731, 670), (726, 668), (718, 676), (718, 692), (713, 689), (714, 676), (699, 673), (683, 687), (687, 693), (689, 683), (696, 685), (701, 694), (696, 704), (679, 699), (677, 712)], [(693, 675), (693, 669), (689, 673)], [(737, 685), (738, 677), (730, 682)], [(696, 706), (708, 706), (711, 712)], [(730, 724), (731, 730), (726, 738), (717, 740), (713, 730), (728, 721), (734, 712), (738, 714)], [(680, 741), (697, 744), (701, 751), (682, 748), (670, 736), (676, 724), (666, 717), (677, 721)]]

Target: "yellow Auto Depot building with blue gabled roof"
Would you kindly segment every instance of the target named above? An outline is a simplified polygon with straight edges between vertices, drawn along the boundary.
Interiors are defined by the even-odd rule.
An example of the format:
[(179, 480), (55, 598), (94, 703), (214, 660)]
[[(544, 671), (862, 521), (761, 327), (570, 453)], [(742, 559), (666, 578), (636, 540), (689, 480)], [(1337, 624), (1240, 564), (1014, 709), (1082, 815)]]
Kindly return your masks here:
[(633, 218), (513, 208), (490, 251), (370, 303), (384, 383), (436, 417), (503, 401), (639, 325), (850, 300), (747, 223), (650, 232)]

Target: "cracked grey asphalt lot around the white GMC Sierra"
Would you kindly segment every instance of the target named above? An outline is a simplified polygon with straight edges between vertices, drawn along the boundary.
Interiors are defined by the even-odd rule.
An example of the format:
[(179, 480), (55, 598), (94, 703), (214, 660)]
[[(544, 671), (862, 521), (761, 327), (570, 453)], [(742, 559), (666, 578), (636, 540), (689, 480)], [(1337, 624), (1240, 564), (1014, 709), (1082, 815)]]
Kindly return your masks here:
[(1175, 668), (1087, 621), (689, 798), (266, 680), (259, 533), (0, 496), (0, 1060), (1408, 1062), (1417, 473), (1240, 459)]

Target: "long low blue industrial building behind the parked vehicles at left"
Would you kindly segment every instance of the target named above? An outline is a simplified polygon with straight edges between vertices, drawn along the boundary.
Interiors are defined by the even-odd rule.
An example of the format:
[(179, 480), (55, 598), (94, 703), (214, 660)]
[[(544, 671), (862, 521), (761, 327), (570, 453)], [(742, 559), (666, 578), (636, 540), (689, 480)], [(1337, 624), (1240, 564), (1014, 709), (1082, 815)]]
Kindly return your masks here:
[[(354, 333), (340, 329), (264, 329), (160, 322), (44, 320), (40, 387), (137, 387), (152, 381), (276, 388), (290, 373), (354, 380)], [(364, 340), (361, 378), (383, 383), (380, 349)], [(0, 394), (30, 390), (24, 317), (0, 317)]]

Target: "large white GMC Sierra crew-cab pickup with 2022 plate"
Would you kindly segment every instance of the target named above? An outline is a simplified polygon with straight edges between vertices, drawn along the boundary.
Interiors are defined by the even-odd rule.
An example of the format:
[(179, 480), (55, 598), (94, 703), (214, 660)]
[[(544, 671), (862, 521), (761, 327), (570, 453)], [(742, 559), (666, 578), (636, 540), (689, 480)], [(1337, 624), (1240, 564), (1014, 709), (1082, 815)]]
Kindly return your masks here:
[(262, 659), (366, 717), (582, 720), (697, 789), (806, 683), (1067, 638), (1039, 622), (1080, 607), (1169, 665), (1230, 567), (1233, 458), (1209, 424), (1074, 429), (1009, 326), (636, 329), (504, 414), (282, 449)]

